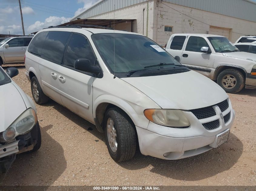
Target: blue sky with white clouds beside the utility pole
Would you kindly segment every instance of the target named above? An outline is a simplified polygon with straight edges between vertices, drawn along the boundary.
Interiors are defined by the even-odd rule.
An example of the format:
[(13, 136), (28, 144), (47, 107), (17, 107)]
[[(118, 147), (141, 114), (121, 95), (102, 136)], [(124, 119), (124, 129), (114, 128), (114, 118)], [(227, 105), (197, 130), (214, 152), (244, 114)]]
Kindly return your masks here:
[[(66, 23), (97, 1), (21, 0), (25, 34)], [(9, 31), (22, 34), (18, 0), (0, 0), (0, 34), (9, 34)]]

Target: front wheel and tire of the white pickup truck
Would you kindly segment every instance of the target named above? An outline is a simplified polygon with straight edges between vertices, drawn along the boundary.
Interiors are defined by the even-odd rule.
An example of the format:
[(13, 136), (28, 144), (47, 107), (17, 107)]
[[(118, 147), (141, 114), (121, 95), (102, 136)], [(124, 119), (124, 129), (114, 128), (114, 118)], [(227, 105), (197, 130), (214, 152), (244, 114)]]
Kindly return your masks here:
[[(228, 83), (231, 82), (231, 83)], [(242, 72), (237, 69), (229, 68), (223, 70), (217, 78), (217, 83), (227, 93), (237, 93), (244, 88), (245, 79)]]

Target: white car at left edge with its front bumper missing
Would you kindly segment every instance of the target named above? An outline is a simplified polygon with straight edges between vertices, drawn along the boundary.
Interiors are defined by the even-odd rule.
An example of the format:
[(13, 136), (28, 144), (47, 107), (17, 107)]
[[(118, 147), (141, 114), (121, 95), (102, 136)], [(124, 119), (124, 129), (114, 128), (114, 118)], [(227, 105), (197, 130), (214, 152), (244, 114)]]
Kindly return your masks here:
[[(8, 75), (7, 75), (8, 74)], [(35, 104), (10, 77), (17, 68), (0, 66), (0, 173), (11, 166), (18, 153), (33, 152), (41, 146)]]

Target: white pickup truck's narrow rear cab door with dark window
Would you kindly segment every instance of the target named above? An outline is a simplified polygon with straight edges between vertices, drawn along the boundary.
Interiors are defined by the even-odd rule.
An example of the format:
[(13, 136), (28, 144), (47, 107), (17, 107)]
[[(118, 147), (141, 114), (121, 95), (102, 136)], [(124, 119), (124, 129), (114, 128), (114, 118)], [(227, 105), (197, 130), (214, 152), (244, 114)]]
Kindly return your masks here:
[(165, 50), (171, 54), (171, 56), (178, 56), (181, 59), (184, 44), (186, 42), (186, 35), (172, 36), (167, 43)]

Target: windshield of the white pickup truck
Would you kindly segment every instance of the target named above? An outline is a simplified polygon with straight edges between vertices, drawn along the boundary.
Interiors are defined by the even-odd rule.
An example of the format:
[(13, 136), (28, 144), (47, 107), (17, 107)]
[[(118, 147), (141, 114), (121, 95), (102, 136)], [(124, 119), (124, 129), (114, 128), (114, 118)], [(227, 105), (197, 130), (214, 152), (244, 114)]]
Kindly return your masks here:
[(216, 53), (239, 51), (226, 37), (207, 37)]

